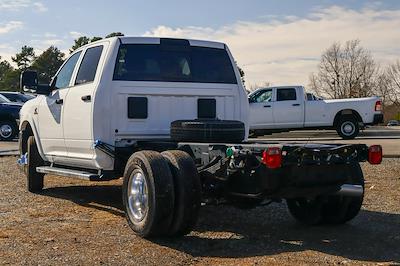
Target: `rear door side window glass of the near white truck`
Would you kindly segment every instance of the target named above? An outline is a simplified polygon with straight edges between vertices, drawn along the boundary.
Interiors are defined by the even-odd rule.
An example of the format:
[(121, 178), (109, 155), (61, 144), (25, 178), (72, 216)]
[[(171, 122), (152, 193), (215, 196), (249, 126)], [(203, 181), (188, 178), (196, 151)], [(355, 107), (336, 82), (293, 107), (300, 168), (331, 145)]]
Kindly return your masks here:
[(75, 85), (89, 83), (94, 80), (102, 51), (103, 46), (96, 46), (86, 50), (78, 70)]

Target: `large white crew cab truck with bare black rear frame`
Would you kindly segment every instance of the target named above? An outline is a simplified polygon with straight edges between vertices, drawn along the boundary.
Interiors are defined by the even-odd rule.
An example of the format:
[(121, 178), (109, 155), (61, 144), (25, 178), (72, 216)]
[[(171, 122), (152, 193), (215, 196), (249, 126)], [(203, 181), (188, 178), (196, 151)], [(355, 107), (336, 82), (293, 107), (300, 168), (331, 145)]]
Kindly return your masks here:
[[(247, 95), (223, 43), (114, 37), (74, 51), (20, 112), (27, 189), (45, 174), (123, 177), (122, 202), (140, 236), (190, 232), (201, 204), (253, 207), (286, 199), (308, 224), (344, 223), (361, 208), (359, 162), (380, 146), (248, 143)], [(295, 173), (295, 174), (294, 174)]]

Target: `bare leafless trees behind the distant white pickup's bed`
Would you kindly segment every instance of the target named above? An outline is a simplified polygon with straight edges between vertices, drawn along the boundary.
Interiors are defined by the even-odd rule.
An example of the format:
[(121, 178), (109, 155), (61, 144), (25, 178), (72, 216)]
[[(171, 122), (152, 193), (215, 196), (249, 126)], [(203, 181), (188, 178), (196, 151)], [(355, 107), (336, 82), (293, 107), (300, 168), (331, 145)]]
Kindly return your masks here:
[(359, 40), (336, 42), (323, 52), (309, 87), (326, 98), (376, 95), (385, 105), (400, 107), (400, 60), (381, 66)]

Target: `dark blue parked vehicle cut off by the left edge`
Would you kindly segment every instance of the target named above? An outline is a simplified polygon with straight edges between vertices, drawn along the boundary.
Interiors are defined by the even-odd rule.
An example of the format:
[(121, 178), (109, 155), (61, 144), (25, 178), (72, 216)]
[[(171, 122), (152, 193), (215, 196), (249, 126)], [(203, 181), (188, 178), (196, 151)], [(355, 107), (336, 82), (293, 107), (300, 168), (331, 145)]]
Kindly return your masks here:
[(0, 140), (12, 140), (18, 135), (19, 111), (22, 104), (0, 95)]

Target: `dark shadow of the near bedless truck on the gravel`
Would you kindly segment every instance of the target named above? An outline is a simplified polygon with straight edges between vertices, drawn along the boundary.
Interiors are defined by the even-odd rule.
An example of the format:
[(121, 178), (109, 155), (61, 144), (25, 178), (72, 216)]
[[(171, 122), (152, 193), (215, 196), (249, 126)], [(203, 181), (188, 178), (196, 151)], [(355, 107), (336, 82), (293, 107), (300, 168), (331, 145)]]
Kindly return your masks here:
[[(48, 188), (43, 194), (124, 216), (117, 185)], [(400, 263), (399, 229), (400, 214), (394, 213), (362, 210), (345, 225), (308, 227), (296, 223), (284, 203), (251, 210), (206, 206), (191, 234), (151, 241), (196, 257), (246, 258), (313, 250), (343, 260)]]

